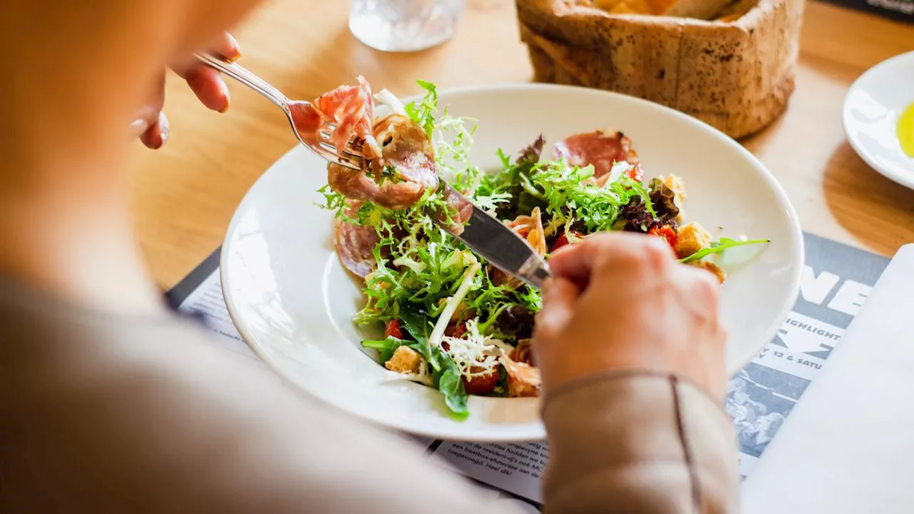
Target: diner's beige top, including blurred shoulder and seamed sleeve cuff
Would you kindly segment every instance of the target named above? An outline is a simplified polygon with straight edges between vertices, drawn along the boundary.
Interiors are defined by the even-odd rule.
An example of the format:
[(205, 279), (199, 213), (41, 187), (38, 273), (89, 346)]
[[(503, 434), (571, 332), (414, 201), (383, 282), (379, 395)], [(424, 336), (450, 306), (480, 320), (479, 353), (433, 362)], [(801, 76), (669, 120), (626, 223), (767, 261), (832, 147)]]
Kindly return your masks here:
[[(25, 296), (0, 287), (2, 512), (514, 512), (199, 328)], [(735, 511), (732, 429), (694, 388), (603, 376), (544, 413), (547, 512)]]

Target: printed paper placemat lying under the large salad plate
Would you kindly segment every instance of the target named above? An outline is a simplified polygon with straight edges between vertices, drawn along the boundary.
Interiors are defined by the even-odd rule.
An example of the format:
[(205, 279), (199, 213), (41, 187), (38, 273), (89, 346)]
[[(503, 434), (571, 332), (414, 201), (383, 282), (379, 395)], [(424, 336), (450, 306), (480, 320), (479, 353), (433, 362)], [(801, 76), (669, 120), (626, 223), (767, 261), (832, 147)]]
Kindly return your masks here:
[[(873, 253), (805, 234), (806, 264), (800, 295), (777, 337), (728, 384), (725, 408), (739, 446), (739, 472), (749, 476), (765, 447), (815, 379), (856, 316), (888, 260)], [(200, 317), (230, 351), (257, 359), (232, 325), (222, 298), (218, 251), (168, 293), (175, 308)], [(545, 442), (477, 444), (407, 436), (441, 466), (486, 488), (494, 498), (540, 509), (539, 483), (546, 467)]]

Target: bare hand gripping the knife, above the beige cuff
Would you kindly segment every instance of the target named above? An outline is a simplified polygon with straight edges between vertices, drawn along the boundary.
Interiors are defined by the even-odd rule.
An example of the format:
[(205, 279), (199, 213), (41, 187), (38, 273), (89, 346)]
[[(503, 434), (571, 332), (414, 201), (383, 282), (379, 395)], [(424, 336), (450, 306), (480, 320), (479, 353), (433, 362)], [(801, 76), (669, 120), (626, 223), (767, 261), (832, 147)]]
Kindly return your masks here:
[(595, 373), (649, 370), (723, 400), (726, 332), (714, 275), (660, 238), (600, 234), (552, 254), (534, 353), (549, 390)]

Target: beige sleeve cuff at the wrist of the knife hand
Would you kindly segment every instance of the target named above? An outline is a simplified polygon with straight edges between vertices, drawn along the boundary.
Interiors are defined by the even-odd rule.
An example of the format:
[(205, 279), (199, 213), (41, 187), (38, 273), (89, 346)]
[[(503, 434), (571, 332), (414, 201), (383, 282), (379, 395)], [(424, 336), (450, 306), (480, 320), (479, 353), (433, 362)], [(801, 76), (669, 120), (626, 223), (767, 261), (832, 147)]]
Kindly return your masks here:
[(694, 385), (616, 373), (553, 392), (546, 512), (733, 513), (739, 473), (732, 425)]

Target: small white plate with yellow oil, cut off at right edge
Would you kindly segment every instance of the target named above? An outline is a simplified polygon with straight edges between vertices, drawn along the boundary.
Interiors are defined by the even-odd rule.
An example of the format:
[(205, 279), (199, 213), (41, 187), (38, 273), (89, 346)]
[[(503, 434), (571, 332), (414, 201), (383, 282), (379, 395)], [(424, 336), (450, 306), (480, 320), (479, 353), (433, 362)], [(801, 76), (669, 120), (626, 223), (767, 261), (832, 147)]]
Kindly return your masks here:
[(898, 115), (914, 102), (914, 52), (866, 70), (845, 96), (842, 121), (857, 155), (885, 177), (914, 189), (914, 158), (901, 150)]

